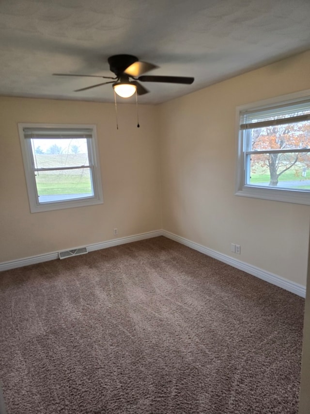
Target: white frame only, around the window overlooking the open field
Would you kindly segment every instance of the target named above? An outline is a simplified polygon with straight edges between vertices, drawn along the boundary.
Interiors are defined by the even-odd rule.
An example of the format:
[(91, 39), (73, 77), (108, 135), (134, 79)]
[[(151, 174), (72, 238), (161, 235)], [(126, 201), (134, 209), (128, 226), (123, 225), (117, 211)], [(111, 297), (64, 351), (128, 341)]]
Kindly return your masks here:
[[(24, 162), (25, 178), (28, 191), (28, 199), (31, 213), (44, 211), (61, 210), (74, 207), (91, 206), (103, 203), (103, 192), (101, 182), (101, 171), (99, 164), (99, 152), (97, 145), (96, 125), (90, 124), (38, 124), (38, 123), (18, 123), (18, 132), (21, 144), (22, 157)], [(35, 182), (35, 165), (31, 149), (30, 139), (25, 138), (24, 128), (55, 129), (55, 130), (80, 130), (87, 129), (92, 131), (92, 138), (88, 139), (88, 156), (93, 182), (93, 197), (69, 199), (61, 201), (51, 201), (40, 203), (37, 186)]]

